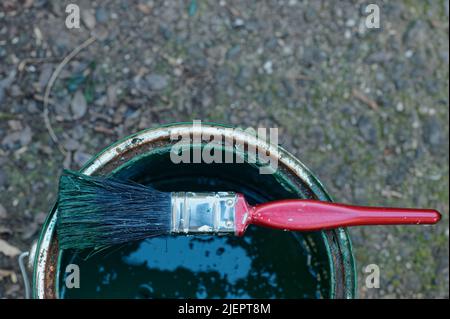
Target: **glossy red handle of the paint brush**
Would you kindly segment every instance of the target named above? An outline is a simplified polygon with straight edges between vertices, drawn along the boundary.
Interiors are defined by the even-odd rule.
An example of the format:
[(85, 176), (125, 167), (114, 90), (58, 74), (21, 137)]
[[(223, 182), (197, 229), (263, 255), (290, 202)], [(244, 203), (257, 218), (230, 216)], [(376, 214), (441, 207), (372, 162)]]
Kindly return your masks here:
[(361, 225), (435, 224), (441, 219), (441, 214), (432, 209), (351, 206), (317, 200), (279, 200), (255, 207), (237, 205), (237, 211), (239, 208), (248, 214), (238, 218), (238, 234), (245, 231), (244, 224), (314, 231)]

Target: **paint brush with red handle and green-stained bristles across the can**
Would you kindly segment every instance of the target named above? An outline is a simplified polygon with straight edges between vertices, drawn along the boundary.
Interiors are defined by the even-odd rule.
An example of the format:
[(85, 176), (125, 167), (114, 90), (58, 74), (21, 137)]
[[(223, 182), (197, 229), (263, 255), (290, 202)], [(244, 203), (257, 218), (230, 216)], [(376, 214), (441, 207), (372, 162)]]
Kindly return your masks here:
[(98, 248), (168, 234), (242, 236), (247, 227), (316, 231), (361, 225), (435, 224), (432, 209), (351, 206), (285, 199), (251, 206), (234, 192), (161, 192), (132, 181), (65, 170), (58, 196), (59, 245)]

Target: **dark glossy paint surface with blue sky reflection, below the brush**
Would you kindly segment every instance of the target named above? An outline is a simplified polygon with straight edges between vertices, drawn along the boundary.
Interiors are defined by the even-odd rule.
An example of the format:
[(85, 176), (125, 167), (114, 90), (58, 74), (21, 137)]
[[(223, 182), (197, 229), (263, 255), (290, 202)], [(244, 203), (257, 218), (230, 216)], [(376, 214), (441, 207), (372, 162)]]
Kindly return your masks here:
[(63, 267), (80, 266), (80, 288), (62, 277), (64, 298), (320, 297), (315, 266), (289, 232), (152, 238), (86, 256), (65, 254)]

